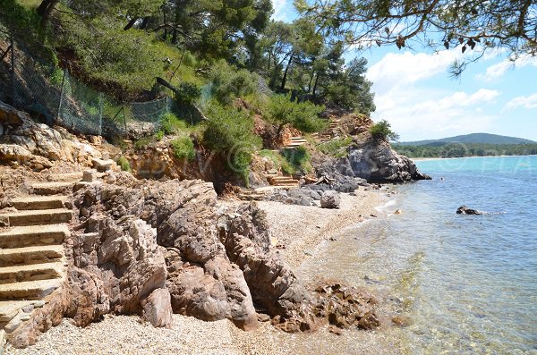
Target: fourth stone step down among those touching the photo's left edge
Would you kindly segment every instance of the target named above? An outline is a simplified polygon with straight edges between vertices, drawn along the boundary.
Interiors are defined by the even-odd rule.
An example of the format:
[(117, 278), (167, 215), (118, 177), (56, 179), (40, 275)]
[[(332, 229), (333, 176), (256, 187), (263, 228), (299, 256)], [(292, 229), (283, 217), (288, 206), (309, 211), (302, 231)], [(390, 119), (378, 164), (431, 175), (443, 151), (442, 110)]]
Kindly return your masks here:
[(0, 284), (47, 280), (62, 277), (62, 263), (0, 267)]

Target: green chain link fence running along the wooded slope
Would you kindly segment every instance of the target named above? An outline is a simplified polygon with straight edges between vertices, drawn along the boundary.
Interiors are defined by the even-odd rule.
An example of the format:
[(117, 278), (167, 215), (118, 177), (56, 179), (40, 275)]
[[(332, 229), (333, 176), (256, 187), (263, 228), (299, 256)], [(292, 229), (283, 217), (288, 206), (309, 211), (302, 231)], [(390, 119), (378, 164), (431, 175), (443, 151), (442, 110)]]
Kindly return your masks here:
[(174, 100), (116, 102), (16, 41), (0, 24), (0, 100), (34, 119), (81, 134), (128, 136), (156, 131)]

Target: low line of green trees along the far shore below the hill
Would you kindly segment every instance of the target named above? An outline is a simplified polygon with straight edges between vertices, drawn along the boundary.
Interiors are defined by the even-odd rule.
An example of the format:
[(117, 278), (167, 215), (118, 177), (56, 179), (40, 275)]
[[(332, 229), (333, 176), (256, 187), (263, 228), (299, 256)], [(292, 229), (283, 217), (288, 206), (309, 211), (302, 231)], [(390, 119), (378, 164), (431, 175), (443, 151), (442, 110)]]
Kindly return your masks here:
[(433, 143), (420, 146), (394, 144), (397, 153), (408, 157), (529, 156), (537, 144)]

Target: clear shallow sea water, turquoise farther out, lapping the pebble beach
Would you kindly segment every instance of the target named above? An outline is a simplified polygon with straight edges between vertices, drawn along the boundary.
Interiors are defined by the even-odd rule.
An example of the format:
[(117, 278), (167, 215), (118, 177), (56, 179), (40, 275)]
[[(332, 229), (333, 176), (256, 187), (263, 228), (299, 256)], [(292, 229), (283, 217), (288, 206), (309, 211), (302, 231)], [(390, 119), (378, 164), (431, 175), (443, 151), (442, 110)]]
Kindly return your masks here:
[(299, 273), (389, 295), (411, 325), (380, 332), (385, 353), (537, 354), (537, 156), (416, 163), (434, 180), (396, 188), (384, 211), (402, 216), (346, 231)]

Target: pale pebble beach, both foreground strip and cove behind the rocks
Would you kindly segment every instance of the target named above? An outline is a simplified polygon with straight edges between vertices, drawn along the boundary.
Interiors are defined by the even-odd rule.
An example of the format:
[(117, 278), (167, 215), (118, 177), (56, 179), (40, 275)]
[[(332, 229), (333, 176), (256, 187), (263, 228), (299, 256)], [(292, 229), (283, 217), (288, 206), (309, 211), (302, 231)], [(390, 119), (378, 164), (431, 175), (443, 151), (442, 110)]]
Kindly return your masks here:
[[(341, 194), (340, 209), (285, 205), (271, 201), (261, 201), (258, 204), (267, 212), (273, 238), (285, 246), (277, 249), (277, 252), (288, 266), (296, 269), (317, 251), (322, 241), (349, 226), (372, 218), (371, 215), (379, 215), (379, 209), (385, 206), (390, 189), (391, 187), (388, 190), (361, 188), (356, 190), (355, 196)], [(316, 335), (319, 333), (320, 336)], [(301, 350), (293, 349), (297, 346), (294, 339), (301, 338), (314, 343), (322, 342), (327, 336), (348, 343), (356, 342), (358, 337), (361, 342), (355, 346), (360, 346), (362, 351), (371, 347), (371, 342), (376, 342), (370, 332), (346, 330), (343, 335), (337, 335), (328, 333), (326, 326), (312, 334), (286, 334), (269, 322), (264, 322), (260, 323), (257, 330), (243, 332), (226, 319), (205, 322), (194, 317), (174, 315), (171, 328), (162, 329), (141, 324), (137, 316), (110, 315), (87, 328), (78, 328), (72, 325), (70, 319), (64, 319), (61, 325), (42, 334), (35, 345), (26, 349), (14, 349), (8, 345), (4, 353), (67, 355), (77, 349), (81, 355), (178, 351), (185, 354), (296, 354), (301, 353)], [(103, 342), (103, 339), (107, 339), (107, 342)], [(383, 353), (381, 349), (377, 351)]]

